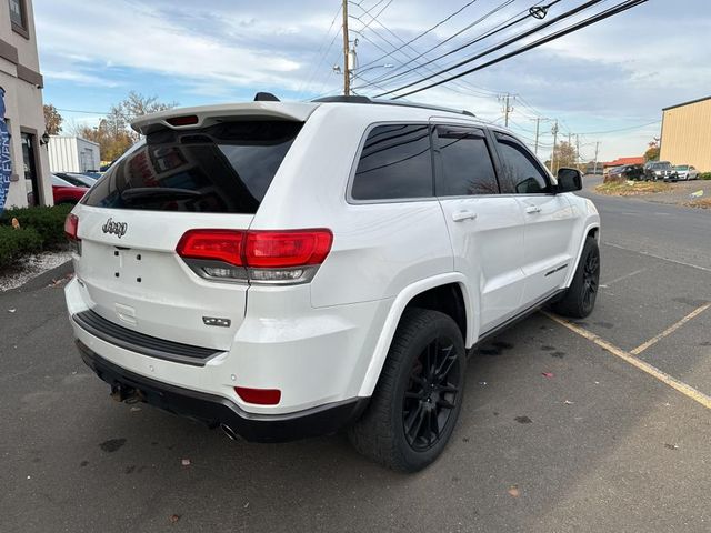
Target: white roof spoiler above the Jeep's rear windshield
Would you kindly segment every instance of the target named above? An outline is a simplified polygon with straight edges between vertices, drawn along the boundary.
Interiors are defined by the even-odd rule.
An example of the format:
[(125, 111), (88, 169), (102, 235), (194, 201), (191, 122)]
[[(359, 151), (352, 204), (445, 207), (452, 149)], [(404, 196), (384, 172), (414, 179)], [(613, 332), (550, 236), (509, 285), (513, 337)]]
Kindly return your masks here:
[(131, 128), (142, 135), (162, 129), (182, 130), (203, 128), (227, 120), (239, 118), (269, 118), (276, 120), (293, 120), (306, 122), (319, 107), (311, 102), (248, 102), (197, 108), (170, 109), (147, 114), (131, 122)]

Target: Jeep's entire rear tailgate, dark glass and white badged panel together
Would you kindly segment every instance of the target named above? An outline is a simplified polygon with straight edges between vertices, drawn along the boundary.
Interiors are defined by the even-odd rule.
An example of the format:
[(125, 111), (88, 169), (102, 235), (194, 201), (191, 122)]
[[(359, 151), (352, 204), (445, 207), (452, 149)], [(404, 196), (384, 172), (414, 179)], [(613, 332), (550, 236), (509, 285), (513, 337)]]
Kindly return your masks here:
[(248, 284), (198, 275), (176, 247), (192, 229), (248, 229), (302, 122), (253, 113), (203, 113), (188, 128), (160, 122), (143, 121), (146, 143), (73, 210), (84, 303), (146, 335), (229, 350)]

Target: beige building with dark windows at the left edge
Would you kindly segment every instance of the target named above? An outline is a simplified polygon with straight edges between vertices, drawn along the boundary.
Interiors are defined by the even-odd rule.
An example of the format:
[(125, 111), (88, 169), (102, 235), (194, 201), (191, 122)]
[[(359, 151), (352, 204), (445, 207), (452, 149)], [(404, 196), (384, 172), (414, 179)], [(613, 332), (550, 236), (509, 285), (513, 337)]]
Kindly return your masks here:
[[(0, 87), (4, 91), (11, 174), (6, 207), (51, 205), (42, 74), (31, 0), (0, 3)], [(4, 191), (3, 191), (4, 192)]]

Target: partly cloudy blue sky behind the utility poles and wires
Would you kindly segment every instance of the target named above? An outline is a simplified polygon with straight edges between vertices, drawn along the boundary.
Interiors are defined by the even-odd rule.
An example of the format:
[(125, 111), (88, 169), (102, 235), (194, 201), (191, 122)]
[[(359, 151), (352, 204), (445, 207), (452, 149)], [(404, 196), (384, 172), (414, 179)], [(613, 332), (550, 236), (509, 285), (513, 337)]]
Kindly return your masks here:
[[(552, 29), (618, 1), (607, 0)], [(354, 0), (350, 26), (351, 38), (358, 38), (361, 78), (373, 81), (401, 73), (398, 67), (493, 9), (503, 6), (419, 61), (481, 36), (533, 3)], [(548, 19), (581, 3), (562, 0)], [(338, 0), (34, 0), (44, 101), (62, 110), (70, 124), (96, 124), (100, 113), (130, 90), (181, 105), (251, 100), (264, 90), (297, 100), (336, 94), (342, 86), (342, 78), (331, 70), (342, 61), (339, 6)], [(409, 47), (390, 53), (462, 8)], [(378, 14), (377, 20), (371, 14)], [(540, 22), (529, 20), (429, 69), (447, 67), (534, 23)], [(641, 154), (659, 135), (661, 108), (711, 93), (709, 28), (708, 0), (650, 0), (457, 83), (409, 98), (469, 109), (501, 122), (497, 95), (509, 92), (517, 94), (511, 127), (525, 139), (534, 137), (535, 117), (544, 117), (558, 119), (564, 135), (580, 133), (587, 159), (593, 157), (595, 141), (601, 143), (601, 159)], [(365, 72), (368, 67), (373, 68)], [(384, 87), (397, 88), (427, 70), (384, 81)], [(381, 91), (369, 86), (361, 92)], [(552, 143), (550, 125), (541, 122), (543, 158)]]

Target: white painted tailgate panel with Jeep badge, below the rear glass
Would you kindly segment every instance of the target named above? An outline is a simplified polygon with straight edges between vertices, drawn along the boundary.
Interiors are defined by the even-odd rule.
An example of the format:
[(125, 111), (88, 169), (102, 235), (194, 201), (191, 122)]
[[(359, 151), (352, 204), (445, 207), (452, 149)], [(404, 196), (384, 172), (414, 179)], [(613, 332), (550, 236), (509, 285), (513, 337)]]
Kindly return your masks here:
[[(87, 305), (121, 326), (159, 339), (229, 350), (244, 318), (247, 284), (214, 283), (198, 276), (176, 254), (180, 237), (196, 227), (248, 228), (252, 217), (156, 213), (81, 207), (81, 258), (77, 276)], [(109, 224), (109, 225), (108, 225)], [(110, 225), (113, 224), (113, 225)], [(116, 232), (104, 232), (104, 228)], [(119, 237), (120, 234), (120, 237)], [(230, 321), (229, 328), (204, 318)]]

